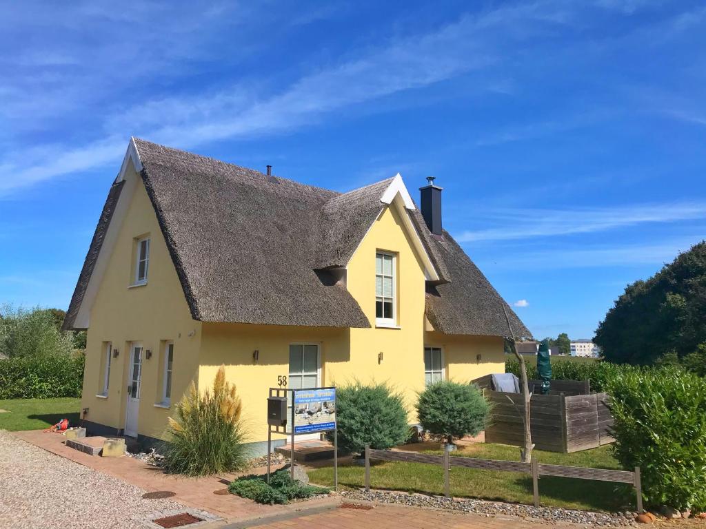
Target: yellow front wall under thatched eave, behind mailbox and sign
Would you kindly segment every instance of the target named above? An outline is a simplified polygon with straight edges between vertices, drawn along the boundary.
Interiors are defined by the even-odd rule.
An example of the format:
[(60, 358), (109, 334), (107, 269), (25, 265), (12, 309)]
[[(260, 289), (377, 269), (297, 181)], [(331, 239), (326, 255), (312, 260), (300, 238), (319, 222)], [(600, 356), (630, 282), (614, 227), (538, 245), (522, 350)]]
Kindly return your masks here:
[[(321, 382), (327, 385), (331, 365), (349, 362), (349, 329), (277, 325), (204, 323), (198, 387), (213, 386), (216, 371), (226, 367), (226, 378), (236, 384), (243, 403), (248, 442), (267, 439), (267, 397), (278, 387), (277, 377), (289, 374), (289, 344), (318, 343)], [(258, 360), (253, 352), (258, 351)], [(273, 439), (277, 439), (273, 436)]]

